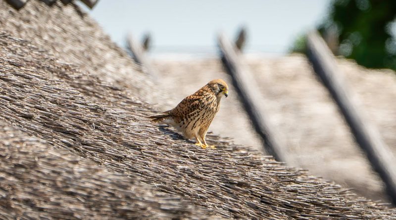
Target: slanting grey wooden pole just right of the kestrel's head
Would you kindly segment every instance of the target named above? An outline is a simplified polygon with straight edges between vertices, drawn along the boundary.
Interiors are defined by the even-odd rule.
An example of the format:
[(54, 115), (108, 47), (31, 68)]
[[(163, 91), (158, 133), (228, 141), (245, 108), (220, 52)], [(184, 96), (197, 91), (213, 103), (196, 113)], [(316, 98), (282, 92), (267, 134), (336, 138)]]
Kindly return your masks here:
[(263, 98), (257, 92), (258, 86), (252, 79), (251, 74), (248, 73), (247, 68), (241, 62), (239, 50), (224, 34), (219, 36), (218, 44), (223, 64), (233, 79), (233, 84), (244, 103), (254, 129), (264, 142), (264, 151), (273, 155), (276, 160), (283, 161), (285, 158), (281, 153), (281, 147), (283, 146), (281, 138), (278, 137), (276, 132), (271, 131), (268, 120), (265, 119), (264, 110), (258, 104), (263, 101)]

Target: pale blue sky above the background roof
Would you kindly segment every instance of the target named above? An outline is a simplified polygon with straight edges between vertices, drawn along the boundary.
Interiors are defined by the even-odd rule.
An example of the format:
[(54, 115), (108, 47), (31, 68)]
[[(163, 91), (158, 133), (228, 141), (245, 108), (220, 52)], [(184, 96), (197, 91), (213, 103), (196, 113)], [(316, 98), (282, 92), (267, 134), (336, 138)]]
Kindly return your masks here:
[(89, 13), (117, 44), (152, 37), (154, 52), (216, 51), (216, 36), (247, 27), (247, 51), (286, 53), (326, 16), (330, 0), (99, 0)]

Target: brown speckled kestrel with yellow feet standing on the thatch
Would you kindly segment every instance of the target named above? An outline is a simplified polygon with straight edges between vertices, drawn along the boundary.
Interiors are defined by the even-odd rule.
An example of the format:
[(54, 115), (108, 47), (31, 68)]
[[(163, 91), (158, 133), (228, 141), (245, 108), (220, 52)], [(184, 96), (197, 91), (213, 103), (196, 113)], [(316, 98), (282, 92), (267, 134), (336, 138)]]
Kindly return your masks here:
[(183, 136), (187, 139), (196, 138), (196, 145), (206, 149), (208, 147), (205, 140), (206, 132), (219, 111), (220, 99), (223, 95), (228, 96), (226, 82), (220, 79), (212, 80), (194, 94), (184, 98), (173, 109), (150, 118), (155, 122), (172, 125), (179, 132), (183, 132)]

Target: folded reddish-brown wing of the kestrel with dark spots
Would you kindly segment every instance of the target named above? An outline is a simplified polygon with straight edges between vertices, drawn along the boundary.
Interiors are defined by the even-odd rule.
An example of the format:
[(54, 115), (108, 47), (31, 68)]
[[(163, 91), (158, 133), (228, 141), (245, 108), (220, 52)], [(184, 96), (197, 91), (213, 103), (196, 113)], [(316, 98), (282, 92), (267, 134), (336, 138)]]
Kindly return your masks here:
[(169, 111), (169, 115), (186, 117), (202, 108), (201, 99), (197, 95), (190, 95), (184, 98), (176, 107)]

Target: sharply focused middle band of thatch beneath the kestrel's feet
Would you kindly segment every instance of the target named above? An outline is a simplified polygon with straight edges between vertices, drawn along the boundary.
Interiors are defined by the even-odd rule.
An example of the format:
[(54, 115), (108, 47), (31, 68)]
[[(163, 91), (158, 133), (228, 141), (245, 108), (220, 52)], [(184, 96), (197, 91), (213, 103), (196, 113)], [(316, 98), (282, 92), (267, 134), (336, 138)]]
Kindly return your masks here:
[(395, 215), (339, 185), (284, 167), (253, 150), (248, 153), (219, 137), (208, 141), (217, 150), (199, 149), (152, 124), (144, 117), (150, 107), (131, 100), (131, 93), (103, 84), (32, 44), (0, 36), (0, 119), (23, 134), (225, 218)]

